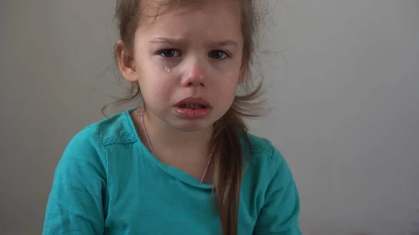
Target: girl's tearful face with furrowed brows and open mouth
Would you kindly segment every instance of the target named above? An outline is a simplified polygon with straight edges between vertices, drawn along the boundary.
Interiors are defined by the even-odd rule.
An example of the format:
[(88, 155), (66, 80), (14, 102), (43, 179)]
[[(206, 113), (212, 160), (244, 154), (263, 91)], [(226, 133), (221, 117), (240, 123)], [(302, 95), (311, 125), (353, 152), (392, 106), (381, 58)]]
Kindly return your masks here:
[(140, 84), (149, 116), (179, 130), (212, 127), (240, 84), (240, 15), (226, 1), (213, 1), (153, 20), (142, 19), (135, 33), (133, 68), (125, 77)]

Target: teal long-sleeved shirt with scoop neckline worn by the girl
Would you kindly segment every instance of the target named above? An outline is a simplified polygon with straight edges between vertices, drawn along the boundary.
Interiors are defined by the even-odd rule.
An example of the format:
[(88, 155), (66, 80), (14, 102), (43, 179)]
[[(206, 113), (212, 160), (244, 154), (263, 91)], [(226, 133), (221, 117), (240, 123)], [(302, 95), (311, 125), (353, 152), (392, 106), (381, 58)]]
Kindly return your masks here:
[[(87, 126), (68, 144), (54, 173), (43, 235), (221, 234), (212, 185), (153, 156), (129, 112)], [(286, 161), (269, 141), (248, 135), (253, 156), (242, 179), (238, 234), (301, 234)]]

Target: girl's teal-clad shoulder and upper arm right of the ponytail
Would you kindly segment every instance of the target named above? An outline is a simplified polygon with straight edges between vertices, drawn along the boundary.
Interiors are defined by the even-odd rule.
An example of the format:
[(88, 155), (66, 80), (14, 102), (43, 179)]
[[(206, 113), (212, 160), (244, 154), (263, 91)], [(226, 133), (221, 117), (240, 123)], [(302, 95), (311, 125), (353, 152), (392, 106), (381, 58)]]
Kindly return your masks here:
[(300, 196), (286, 160), (270, 140), (251, 134), (247, 137), (252, 155), (243, 176), (242, 198), (248, 204), (256, 204), (258, 209), (254, 231), (256, 234), (301, 234)]

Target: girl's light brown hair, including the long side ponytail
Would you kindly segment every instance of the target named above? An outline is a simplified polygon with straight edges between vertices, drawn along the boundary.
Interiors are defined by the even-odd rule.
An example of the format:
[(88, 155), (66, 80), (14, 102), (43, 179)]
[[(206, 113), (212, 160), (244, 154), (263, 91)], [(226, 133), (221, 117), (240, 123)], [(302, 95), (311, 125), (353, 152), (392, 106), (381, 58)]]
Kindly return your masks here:
[[(221, 218), (221, 227), (224, 235), (237, 234), (238, 209), (240, 202), (240, 186), (242, 182), (244, 153), (241, 140), (249, 145), (249, 160), (251, 157), (251, 144), (247, 137), (247, 126), (244, 117), (260, 116), (261, 101), (256, 102), (260, 95), (261, 82), (253, 89), (251, 80), (251, 66), (256, 59), (255, 48), (258, 39), (260, 11), (255, 2), (260, 0), (230, 0), (238, 6), (241, 17), (242, 36), (244, 39), (241, 79), (244, 95), (237, 95), (228, 112), (214, 123), (214, 132), (210, 147), (214, 153), (214, 191), (216, 208)], [(115, 58), (117, 54), (125, 51), (132, 54), (135, 31), (144, 14), (158, 15), (167, 10), (179, 7), (190, 7), (191, 10), (201, 8), (210, 3), (208, 0), (117, 0), (116, 20), (119, 29), (119, 43), (115, 45)], [(118, 45), (123, 45), (123, 48)], [(253, 91), (251, 91), (253, 89)], [(129, 96), (123, 102), (141, 98), (140, 86), (131, 84)]]

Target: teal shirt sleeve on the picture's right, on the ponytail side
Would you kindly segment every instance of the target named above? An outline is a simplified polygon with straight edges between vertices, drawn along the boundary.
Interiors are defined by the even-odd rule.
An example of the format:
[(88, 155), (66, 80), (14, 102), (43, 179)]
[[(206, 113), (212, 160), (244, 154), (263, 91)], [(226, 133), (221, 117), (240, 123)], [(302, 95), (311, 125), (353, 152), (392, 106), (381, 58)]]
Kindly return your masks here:
[(298, 216), (300, 198), (291, 170), (281, 153), (272, 153), (272, 178), (267, 186), (254, 235), (301, 235)]

